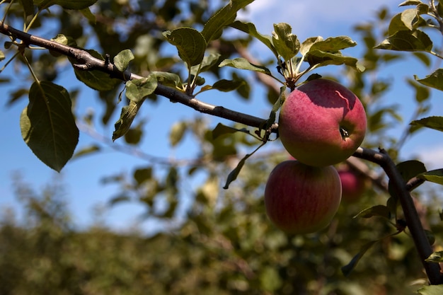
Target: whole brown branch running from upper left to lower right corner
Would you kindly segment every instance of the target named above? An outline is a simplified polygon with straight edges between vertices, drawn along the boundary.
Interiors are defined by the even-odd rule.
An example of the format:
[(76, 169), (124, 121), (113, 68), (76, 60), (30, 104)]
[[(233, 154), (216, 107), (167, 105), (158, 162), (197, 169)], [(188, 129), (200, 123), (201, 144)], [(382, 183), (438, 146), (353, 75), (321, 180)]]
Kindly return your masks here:
[[(1, 21), (0, 33), (12, 37), (13, 40), (22, 40), (24, 45), (37, 45), (40, 47), (44, 47), (47, 50), (59, 52), (60, 54), (63, 54), (67, 57), (74, 58), (78, 62), (78, 64), (74, 64), (74, 66), (76, 66), (78, 69), (96, 69), (99, 71), (104, 71), (105, 73), (108, 73), (117, 79), (121, 79), (122, 81), (143, 78), (142, 76), (131, 73), (130, 71), (119, 71), (113, 64), (105, 62), (101, 59), (97, 59), (85, 50), (69, 47), (51, 40), (37, 37), (35, 35), (24, 33), (23, 31), (17, 30), (16, 28), (6, 25)], [(161, 84), (157, 86), (156, 91), (154, 92), (159, 96), (164, 96), (172, 101), (182, 103), (183, 105), (187, 105), (199, 112), (222, 117), (224, 119), (238, 122), (251, 127), (263, 127), (263, 125), (267, 121), (263, 118), (254, 117), (241, 112), (236, 112), (235, 110), (229, 110), (228, 108), (224, 108), (219, 105), (211, 105), (209, 103), (202, 102), (174, 88), (163, 86)], [(277, 123), (274, 123), (270, 127), (269, 131), (277, 132), (277, 128)], [(392, 159), (384, 151), (377, 152), (371, 149), (364, 149), (362, 147), (357, 149), (353, 156), (377, 163), (384, 169), (386, 175), (388, 175), (389, 179), (391, 180), (392, 187), (396, 195), (398, 196), (398, 199), (400, 199), (401, 207), (403, 208), (405, 219), (408, 224), (408, 229), (410, 230), (410, 234), (413, 237), (415, 247), (418, 250), (423, 267), (425, 267), (430, 283), (443, 284), (443, 278), (442, 274), (440, 273), (439, 265), (437, 263), (425, 262), (425, 259), (428, 258), (429, 255), (432, 253), (432, 248), (429, 241), (427, 240), (425, 231), (423, 230), (417, 210), (415, 209), (413, 203), (413, 199), (408, 192), (408, 187), (401, 178), (400, 173), (398, 173), (398, 170), (396, 169), (396, 166), (393, 163)]]

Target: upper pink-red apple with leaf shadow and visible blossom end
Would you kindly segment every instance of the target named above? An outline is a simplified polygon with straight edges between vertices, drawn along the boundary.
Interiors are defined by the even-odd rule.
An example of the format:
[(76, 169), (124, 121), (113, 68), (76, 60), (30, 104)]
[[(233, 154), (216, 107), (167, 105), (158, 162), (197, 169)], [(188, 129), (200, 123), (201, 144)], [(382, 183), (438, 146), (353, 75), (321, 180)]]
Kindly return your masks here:
[(315, 79), (284, 100), (278, 124), (289, 154), (306, 165), (330, 166), (345, 161), (362, 144), (367, 117), (359, 98), (345, 86)]

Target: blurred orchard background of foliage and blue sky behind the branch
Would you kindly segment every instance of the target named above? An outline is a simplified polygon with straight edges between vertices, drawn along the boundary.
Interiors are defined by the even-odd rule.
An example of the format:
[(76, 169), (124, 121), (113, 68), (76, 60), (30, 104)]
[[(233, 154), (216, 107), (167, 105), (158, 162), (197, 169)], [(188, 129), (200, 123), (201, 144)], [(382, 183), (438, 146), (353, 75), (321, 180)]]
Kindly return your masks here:
[[(339, 65), (322, 66), (309, 74), (335, 79), (359, 96), (369, 123), (362, 146), (374, 151), (380, 147), (395, 163), (403, 162), (398, 169), (406, 180), (425, 172), (412, 160), (422, 160), (426, 170), (441, 168), (442, 120), (421, 121), (434, 129), (418, 129), (410, 122), (439, 116), (443, 110), (438, 70), (443, 6), (436, 1), (407, 1), (407, 6), (398, 7), (389, 1), (380, 8), (381, 2), (372, 1), (350, 23), (339, 16), (356, 9), (355, 4), (336, 2), (334, 9), (325, 1), (309, 11), (299, 4), (290, 13), (284, 3), (230, 2), (248, 4), (238, 8), (237, 19), (251, 21), (257, 32), (250, 30), (248, 35), (232, 28), (238, 23), (226, 23), (231, 26), (219, 38), (213, 32), (216, 36), (204, 51), (206, 62), (214, 63), (200, 74), (205, 81), (196, 80), (202, 85), (194, 94), (208, 89), (205, 85), (217, 89), (196, 98), (267, 120), (282, 85), (269, 75), (256, 74), (265, 71), (263, 67), (247, 66), (255, 70), (247, 71), (218, 65), (241, 57), (281, 78), (272, 52), (257, 40), (261, 34), (271, 35), (273, 23), (289, 23), (300, 42), (317, 35), (325, 39), (349, 35), (357, 42), (343, 50), (350, 66), (334, 55), (330, 60)], [(0, 273), (1, 294), (413, 294), (420, 288), (421, 294), (441, 294), (442, 282), (427, 287), (418, 250), (408, 228), (404, 230), (402, 208), (394, 206), (393, 212), (392, 204), (386, 203), (391, 199), (388, 178), (376, 163), (352, 158), (351, 164), (363, 170), (372, 185), (357, 202), (343, 202), (327, 229), (287, 236), (270, 224), (263, 205), (267, 175), (288, 158), (280, 141), (273, 141), (275, 134), (246, 159), (236, 180), (224, 190), (231, 171), (262, 144), (251, 136), (256, 127), (171, 103), (176, 96), (150, 93), (122, 135), (115, 122), (126, 123), (119, 120), (128, 92), (118, 76), (110, 79), (98, 71), (87, 76), (88, 71), (77, 66), (77, 77), (98, 88), (92, 90), (76, 79), (74, 60), (69, 62), (60, 52), (29, 50), (21, 46), (19, 37), (11, 40), (4, 30), (4, 24), (11, 25), (47, 40), (63, 34), (69, 38), (59, 35), (57, 42), (73, 46), (75, 41), (119, 69), (128, 66), (140, 76), (152, 71), (176, 74), (163, 74), (159, 84), (177, 86), (187, 81), (188, 69), (168, 42), (171, 35), (164, 32), (192, 27), (195, 30), (186, 33), (192, 31), (195, 37), (195, 31), (205, 30), (204, 24), (226, 4), (0, 1), (5, 47), (1, 66), (7, 65), (0, 74), (4, 93), (0, 265), (6, 270)], [(432, 5), (435, 16), (427, 14)], [(265, 6), (261, 13), (260, 6)], [(275, 13), (270, 13), (273, 9)], [(340, 30), (329, 30), (331, 23), (339, 23)], [(403, 35), (391, 38), (390, 44), (384, 42), (398, 31)], [(182, 50), (186, 53), (188, 47)], [(114, 59), (122, 51), (125, 54)], [(8, 63), (16, 52), (23, 54)], [(199, 62), (194, 55), (181, 53), (188, 64)], [(353, 59), (364, 71), (352, 65)], [(431, 79), (417, 81), (432, 73)], [(39, 161), (21, 139), (18, 122), (28, 96), (35, 96), (30, 91), (34, 79), (52, 81), (69, 91), (80, 129), (79, 144), (74, 145), (74, 157), (65, 159), (66, 166), (47, 160), (50, 166), (64, 166), (59, 174)], [(134, 100), (132, 95), (128, 97)], [(441, 177), (437, 170), (427, 179), (442, 183)], [(435, 239), (434, 251), (443, 245), (440, 191), (441, 186), (430, 181), (413, 190), (421, 223)], [(93, 212), (91, 204), (98, 204)]]

